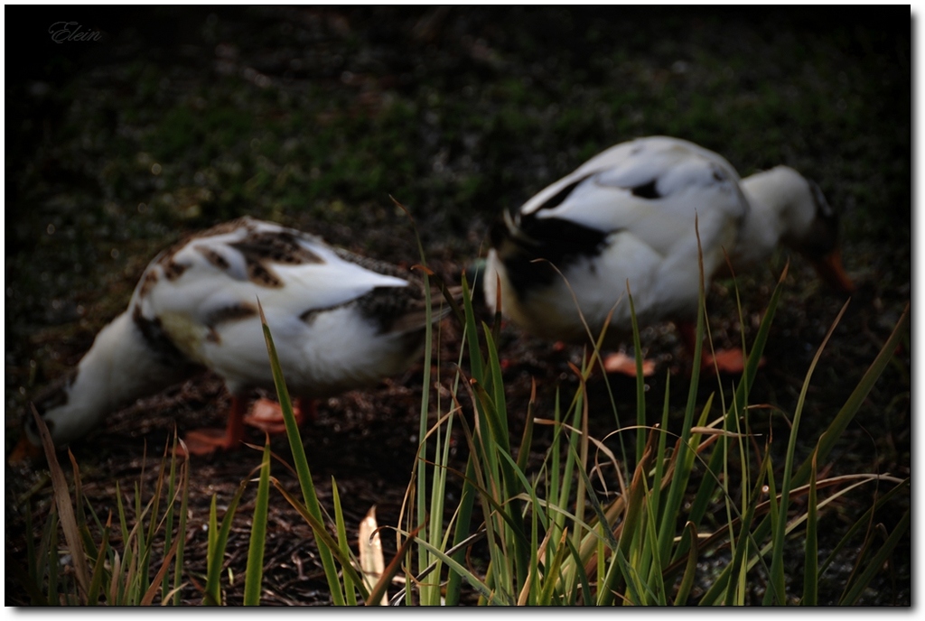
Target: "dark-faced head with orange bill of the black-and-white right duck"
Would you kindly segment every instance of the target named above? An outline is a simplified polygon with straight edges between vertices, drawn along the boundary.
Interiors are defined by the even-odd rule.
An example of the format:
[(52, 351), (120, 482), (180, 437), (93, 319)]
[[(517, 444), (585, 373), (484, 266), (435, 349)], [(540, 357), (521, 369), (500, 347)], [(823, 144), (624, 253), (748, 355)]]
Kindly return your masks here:
[[(742, 181), (753, 209), (765, 209), (777, 219), (780, 242), (807, 258), (820, 278), (833, 289), (851, 294), (854, 283), (845, 274), (839, 248), (838, 212), (820, 187), (793, 168), (777, 166)], [(756, 224), (771, 226), (756, 218)]]

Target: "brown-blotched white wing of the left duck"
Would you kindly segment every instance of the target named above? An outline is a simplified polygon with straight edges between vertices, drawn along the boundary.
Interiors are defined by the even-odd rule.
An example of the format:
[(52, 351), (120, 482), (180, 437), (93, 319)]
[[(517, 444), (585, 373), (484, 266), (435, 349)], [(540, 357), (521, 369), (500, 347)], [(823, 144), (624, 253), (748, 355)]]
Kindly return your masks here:
[[(135, 289), (131, 312), (155, 347), (201, 359), (219, 327), (255, 320), (257, 300), (273, 329), (362, 300), (370, 317), (415, 297), (397, 268), (328, 246), (319, 237), (252, 218), (218, 225), (159, 255)], [(402, 302), (404, 300), (404, 302)], [(392, 317), (394, 320), (394, 317)], [(256, 336), (263, 336), (257, 331)], [(258, 350), (259, 351), (259, 350)]]

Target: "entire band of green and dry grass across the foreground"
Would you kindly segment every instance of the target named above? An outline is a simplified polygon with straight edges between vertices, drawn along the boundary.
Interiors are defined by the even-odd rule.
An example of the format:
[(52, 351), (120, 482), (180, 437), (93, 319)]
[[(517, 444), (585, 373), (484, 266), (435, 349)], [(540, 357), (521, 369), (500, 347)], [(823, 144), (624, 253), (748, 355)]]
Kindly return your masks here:
[[(428, 275), (432, 274), (425, 273), (429, 285)], [(437, 281), (446, 292), (446, 287)], [(450, 399), (445, 403), (440, 398), (433, 400), (437, 408), (434, 417), (428, 347), (421, 446), (403, 518), (388, 527), (398, 535), (398, 552), (388, 566), (376, 566), (378, 576), (373, 579), (364, 576), (361, 562), (351, 551), (337, 484), (333, 484), (333, 518), (318, 500), (283, 370), (264, 322), (267, 351), (302, 498), (290, 494), (272, 476), (269, 444), (265, 444), (261, 464), (255, 469), (259, 470), (259, 483), (245, 603), (260, 602), (271, 484), (312, 528), (335, 605), (386, 601), (454, 605), (472, 591), (479, 603), (503, 605), (734, 605), (753, 603), (755, 592), (759, 592), (760, 603), (813, 605), (818, 603), (820, 577), (847, 546), (858, 545), (860, 537), (861, 552), (839, 599), (839, 603), (858, 603), (909, 530), (908, 510), (893, 530), (882, 525), (874, 527), (875, 515), (907, 494), (909, 481), (872, 473), (824, 477), (820, 476), (819, 465), (830, 457), (838, 437), (905, 337), (908, 309), (870, 369), (816, 439), (815, 450), (797, 464), (800, 419), (820, 352), (832, 334), (830, 330), (806, 373), (796, 408), (789, 413), (791, 433), (781, 464), (780, 457), (773, 457), (770, 439), (752, 431), (750, 418), (755, 407), (748, 396), (782, 287), (783, 276), (747, 352), (746, 370), (734, 392), (726, 396), (721, 387), (718, 396), (709, 396), (697, 412), (699, 383), (695, 364), (684, 421), (679, 431), (671, 432), (668, 393), (660, 422), (649, 425), (644, 387), (638, 382), (636, 398), (641, 405), (635, 425), (611, 432), (617, 436), (635, 433), (635, 443), (622, 444), (635, 450), (616, 454), (605, 444), (609, 438), (594, 438), (588, 432), (589, 418), (599, 415), (601, 409), (591, 403), (586, 388), (591, 371), (600, 361), (599, 347), (594, 347), (581, 368), (572, 365), (578, 387), (573, 396), (557, 394), (551, 418), (536, 416), (536, 394), (526, 411), (512, 411), (505, 398), (504, 375), (495, 345), (497, 332), (485, 323), (476, 323), (470, 289), (463, 276), (462, 306), (449, 293), (446, 295), (464, 327)], [(632, 304), (632, 296), (627, 302)], [(833, 328), (837, 322), (838, 318)], [(698, 342), (705, 324), (701, 300)], [(428, 346), (432, 343), (431, 330), (428, 323)], [(635, 334), (638, 338), (637, 330)], [(602, 337), (598, 343), (601, 340)], [(639, 368), (641, 348), (635, 351)], [(695, 352), (698, 358), (699, 350)], [(616, 417), (612, 400), (606, 408), (613, 409)], [(524, 432), (516, 447), (508, 428), (512, 417), (524, 420)], [(41, 428), (41, 420), (39, 425)], [(469, 448), (464, 472), (450, 469), (454, 425), (458, 425)], [(553, 430), (552, 442), (538, 469), (529, 468), (527, 459), (537, 425)], [(133, 524), (119, 496), (118, 526), (123, 542), (120, 554), (109, 541), (112, 516), (105, 524), (92, 516), (96, 530), (102, 533), (97, 539), (81, 519), (80, 473), (73, 457), (76, 502), (70, 499), (67, 481), (46, 431), (43, 444), (55, 485), (55, 506), (44, 525), (41, 542), (29, 551), (30, 566), (18, 572), (31, 603), (149, 604), (158, 599), (161, 603), (179, 603), (179, 589), (183, 586), (179, 580), (184, 574), (181, 533), (186, 528), (187, 462), (178, 463), (173, 453), (165, 450), (158, 484), (146, 505), (142, 506), (142, 493), (136, 485)], [(425, 451), (429, 444), (433, 444), (432, 452)], [(434, 457), (428, 460), (425, 453)], [(462, 477), (462, 495), (453, 507), (446, 504), (450, 477)], [(615, 492), (598, 492), (595, 483), (601, 481), (611, 484)], [(221, 524), (213, 499), (203, 603), (223, 602), (220, 580), (228, 531), (248, 482), (241, 482)], [(878, 485), (885, 492), (857, 519), (833, 552), (821, 559), (818, 541), (820, 529), (825, 528), (824, 509), (868, 484)], [(160, 499), (165, 492), (166, 508), (161, 515)], [(179, 509), (175, 509), (178, 503)], [(447, 522), (445, 515), (450, 515)], [(175, 518), (179, 522), (176, 530)], [(58, 562), (58, 548), (62, 547), (59, 527), (65, 534), (63, 548), (71, 558), (67, 571), (62, 571)], [(167, 553), (154, 578), (149, 578), (158, 533), (163, 533), (160, 536)], [(803, 542), (800, 558), (788, 553), (791, 547), (787, 542), (795, 539)], [(477, 554), (474, 545), (479, 541), (484, 542), (480, 546), (485, 550), (485, 569), (471, 562), (470, 555)], [(719, 550), (724, 554), (715, 554)], [(712, 560), (708, 560), (710, 555)], [(721, 557), (724, 560), (717, 560)], [(789, 567), (795, 565), (801, 566), (801, 588), (793, 579), (788, 581), (795, 578), (788, 575)], [(709, 577), (704, 567), (709, 567)], [(388, 587), (399, 573), (404, 575), (406, 587), (388, 600)]]

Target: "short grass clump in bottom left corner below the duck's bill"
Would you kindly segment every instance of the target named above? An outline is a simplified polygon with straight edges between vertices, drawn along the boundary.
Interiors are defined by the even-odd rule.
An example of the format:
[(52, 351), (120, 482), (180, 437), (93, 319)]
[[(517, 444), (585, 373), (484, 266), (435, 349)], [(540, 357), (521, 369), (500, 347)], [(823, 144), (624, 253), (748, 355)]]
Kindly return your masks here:
[[(117, 483), (116, 524), (113, 524), (112, 512), (104, 524), (89, 503), (86, 504), (90, 514), (88, 520), (77, 461), (68, 451), (73, 471), (74, 496), (71, 498), (51, 436), (42, 418), (34, 411), (33, 416), (48, 460), (54, 503), (38, 545), (27, 539), (28, 566), (15, 567), (13, 572), (29, 594), (30, 603), (148, 605), (159, 601), (179, 604), (179, 591), (185, 586), (180, 580), (189, 499), (188, 464), (179, 461), (174, 451), (166, 446), (154, 491), (146, 503), (143, 501), (147, 494), (142, 471), (131, 496), (133, 506), (130, 508), (134, 512), (130, 518)], [(177, 442), (175, 433), (174, 447)], [(115, 534), (121, 537), (118, 546), (113, 541), (114, 528), (117, 529)], [(59, 530), (64, 533), (64, 542), (59, 539)], [(157, 549), (162, 549), (164, 554), (159, 564), (154, 565)], [(7, 561), (13, 562), (8, 557)]]

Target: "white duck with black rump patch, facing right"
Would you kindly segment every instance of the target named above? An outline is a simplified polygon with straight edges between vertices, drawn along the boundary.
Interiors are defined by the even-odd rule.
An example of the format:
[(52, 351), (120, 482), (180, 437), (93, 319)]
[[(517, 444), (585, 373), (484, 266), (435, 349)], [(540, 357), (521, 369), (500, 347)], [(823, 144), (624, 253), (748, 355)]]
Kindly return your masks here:
[[(631, 330), (628, 281), (640, 325), (686, 324), (697, 316), (695, 216), (708, 284), (725, 269), (724, 251), (740, 271), (783, 243), (839, 290), (853, 289), (837, 250), (837, 216), (814, 183), (786, 166), (740, 179), (717, 153), (650, 137), (599, 153), (505, 213), (492, 230), (487, 305), (498, 308), (499, 281), (501, 310), (514, 323), (573, 342), (588, 338), (575, 300), (595, 338), (612, 309), (613, 347)], [(721, 371), (741, 371), (741, 352), (717, 359)], [(635, 372), (635, 364), (605, 366)]]

